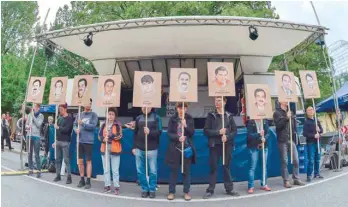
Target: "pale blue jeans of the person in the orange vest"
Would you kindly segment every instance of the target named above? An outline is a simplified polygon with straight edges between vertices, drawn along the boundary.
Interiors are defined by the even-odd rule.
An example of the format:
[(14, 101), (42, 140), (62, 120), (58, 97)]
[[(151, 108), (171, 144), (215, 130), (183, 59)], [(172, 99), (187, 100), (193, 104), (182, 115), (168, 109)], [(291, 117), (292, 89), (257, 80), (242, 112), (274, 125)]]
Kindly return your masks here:
[(110, 154), (110, 144), (108, 144), (108, 161), (107, 166), (105, 165), (105, 155), (102, 155), (103, 168), (104, 168), (104, 183), (105, 187), (111, 186), (111, 174), (110, 174), (110, 160), (111, 160), (111, 170), (112, 170), (112, 180), (114, 182), (114, 187), (120, 187), (120, 155)]

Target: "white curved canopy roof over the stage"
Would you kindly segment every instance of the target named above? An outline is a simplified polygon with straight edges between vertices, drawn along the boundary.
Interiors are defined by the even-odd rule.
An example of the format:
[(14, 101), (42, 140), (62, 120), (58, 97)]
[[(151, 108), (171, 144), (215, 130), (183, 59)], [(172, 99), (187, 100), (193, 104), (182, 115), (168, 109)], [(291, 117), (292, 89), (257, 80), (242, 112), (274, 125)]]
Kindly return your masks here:
[[(249, 38), (251, 25), (259, 33), (255, 41)], [(66, 28), (43, 33), (37, 38), (39, 41), (50, 39), (92, 61), (99, 74), (120, 71), (123, 80), (128, 82), (126, 79), (129, 79), (131, 84), (130, 73), (134, 70), (169, 74), (171, 66), (186, 64), (187, 67), (198, 67), (202, 65), (201, 61), (204, 63), (211, 59), (232, 61), (247, 73), (266, 72), (273, 56), (291, 50), (315, 33), (324, 33), (325, 29), (273, 19), (160, 17)], [(87, 47), (82, 39), (89, 32), (93, 32), (93, 44)], [(204, 72), (204, 69), (198, 69)], [(205, 84), (205, 79), (201, 84)]]

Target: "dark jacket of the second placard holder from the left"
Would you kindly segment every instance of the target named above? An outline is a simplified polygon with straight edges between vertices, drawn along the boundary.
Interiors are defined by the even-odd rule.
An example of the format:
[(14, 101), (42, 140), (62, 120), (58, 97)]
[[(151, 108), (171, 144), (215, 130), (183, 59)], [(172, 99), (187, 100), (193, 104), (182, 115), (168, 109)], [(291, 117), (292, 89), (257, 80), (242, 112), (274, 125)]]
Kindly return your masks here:
[(70, 115), (66, 117), (59, 117), (57, 121), (59, 129), (57, 129), (57, 140), (71, 142), (71, 132), (73, 130), (73, 119)]

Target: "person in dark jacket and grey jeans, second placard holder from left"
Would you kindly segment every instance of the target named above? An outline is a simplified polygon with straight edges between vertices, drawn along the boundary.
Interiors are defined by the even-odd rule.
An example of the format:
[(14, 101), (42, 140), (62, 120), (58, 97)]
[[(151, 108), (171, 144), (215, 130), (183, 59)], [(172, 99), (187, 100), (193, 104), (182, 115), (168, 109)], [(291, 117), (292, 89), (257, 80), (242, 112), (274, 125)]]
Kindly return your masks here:
[(64, 158), (64, 163), (67, 170), (67, 180), (66, 184), (71, 184), (71, 167), (70, 167), (70, 143), (71, 143), (71, 132), (73, 130), (73, 119), (69, 116), (68, 105), (61, 104), (59, 106), (60, 117), (57, 120), (57, 125), (54, 126), (57, 134), (56, 143), (53, 143), (52, 147), (56, 148), (56, 177), (54, 182), (61, 180), (60, 171), (62, 168), (62, 161)]

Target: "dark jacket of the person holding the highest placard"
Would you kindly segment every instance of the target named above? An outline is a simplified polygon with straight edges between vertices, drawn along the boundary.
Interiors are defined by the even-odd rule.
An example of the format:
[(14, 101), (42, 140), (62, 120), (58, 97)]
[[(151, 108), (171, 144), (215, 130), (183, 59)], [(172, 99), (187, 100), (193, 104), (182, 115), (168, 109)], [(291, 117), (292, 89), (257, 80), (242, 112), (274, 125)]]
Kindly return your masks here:
[[(234, 145), (234, 136), (237, 134), (237, 127), (234, 123), (233, 116), (229, 112), (224, 114), (226, 136), (226, 144)], [(205, 119), (204, 134), (208, 137), (208, 146), (215, 147), (215, 145), (222, 145), (222, 140), (220, 135), (220, 129), (222, 129), (222, 116), (215, 112), (210, 112)]]

